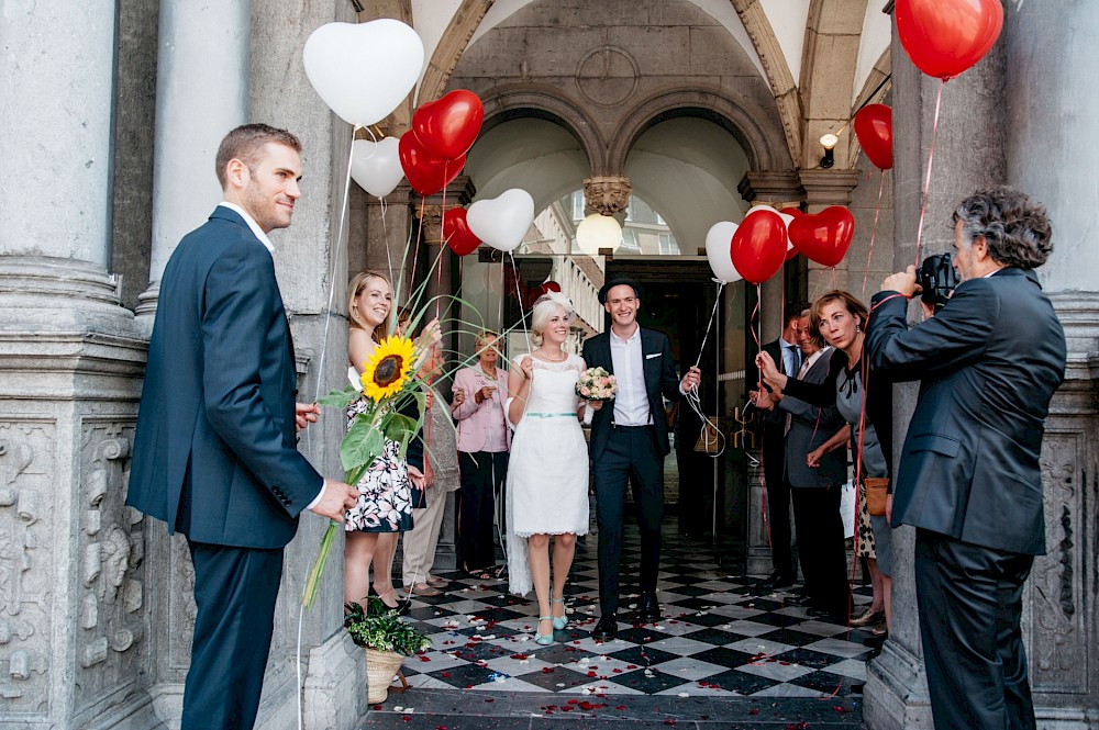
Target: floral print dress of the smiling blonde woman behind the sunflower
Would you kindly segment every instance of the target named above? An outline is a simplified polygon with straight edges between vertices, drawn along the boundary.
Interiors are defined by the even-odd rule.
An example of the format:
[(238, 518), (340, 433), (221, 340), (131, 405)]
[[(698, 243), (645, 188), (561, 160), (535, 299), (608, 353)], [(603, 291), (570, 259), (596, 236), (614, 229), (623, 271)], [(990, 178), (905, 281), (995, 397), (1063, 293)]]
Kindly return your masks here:
[[(347, 406), (348, 426), (355, 414), (366, 407), (363, 398)], [(404, 532), (412, 529), (412, 483), (397, 441), (386, 440), (385, 452), (370, 463), (355, 486), (358, 487), (358, 502), (345, 515), (345, 531)]]

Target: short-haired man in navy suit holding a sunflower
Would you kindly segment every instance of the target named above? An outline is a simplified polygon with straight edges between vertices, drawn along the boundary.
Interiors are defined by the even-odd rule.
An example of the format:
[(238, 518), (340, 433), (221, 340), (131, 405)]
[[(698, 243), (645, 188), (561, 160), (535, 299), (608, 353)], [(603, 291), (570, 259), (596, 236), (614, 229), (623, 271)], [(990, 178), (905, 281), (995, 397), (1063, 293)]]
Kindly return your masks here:
[(230, 132), (217, 157), (224, 200), (160, 279), (126, 504), (187, 536), (195, 564), (184, 730), (253, 727), (298, 515), (342, 521), (357, 496), (296, 447), (318, 409), (295, 404), (267, 234), (290, 225), (300, 150), (267, 125)]

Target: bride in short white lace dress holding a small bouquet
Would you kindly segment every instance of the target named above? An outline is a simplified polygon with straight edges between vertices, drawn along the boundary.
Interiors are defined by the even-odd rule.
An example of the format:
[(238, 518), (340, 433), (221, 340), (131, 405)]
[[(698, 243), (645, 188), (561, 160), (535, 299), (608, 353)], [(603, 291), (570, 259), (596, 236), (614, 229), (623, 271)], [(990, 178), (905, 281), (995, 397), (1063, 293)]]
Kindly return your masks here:
[[(508, 467), (508, 575), (510, 589), (539, 599), (534, 640), (553, 643), (564, 629), (565, 582), (576, 536), (588, 531), (588, 446), (580, 418), (586, 404), (576, 395), (584, 360), (564, 351), (573, 303), (550, 292), (534, 303), (534, 350), (514, 359), (508, 377), (508, 418), (515, 427)], [(553, 585), (550, 539), (553, 536)]]

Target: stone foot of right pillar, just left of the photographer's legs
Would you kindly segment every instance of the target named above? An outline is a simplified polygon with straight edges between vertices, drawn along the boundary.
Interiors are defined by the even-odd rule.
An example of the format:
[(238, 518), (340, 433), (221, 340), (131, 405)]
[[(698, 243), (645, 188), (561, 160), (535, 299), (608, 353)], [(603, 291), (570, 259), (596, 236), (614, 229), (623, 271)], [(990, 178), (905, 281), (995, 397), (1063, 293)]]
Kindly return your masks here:
[(933, 730), (923, 659), (896, 641), (866, 665), (863, 722), (874, 730)]

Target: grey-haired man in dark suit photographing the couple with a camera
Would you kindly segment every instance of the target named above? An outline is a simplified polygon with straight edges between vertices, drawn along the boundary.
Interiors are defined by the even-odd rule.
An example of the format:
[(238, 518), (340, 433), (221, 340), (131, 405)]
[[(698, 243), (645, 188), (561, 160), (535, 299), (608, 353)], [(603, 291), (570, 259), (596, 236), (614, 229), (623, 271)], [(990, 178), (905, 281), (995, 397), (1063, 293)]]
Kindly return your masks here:
[(914, 267), (874, 297), (870, 377), (921, 381), (889, 506), (893, 525), (917, 528), (939, 730), (1035, 727), (1019, 620), (1034, 555), (1045, 553), (1039, 454), (1065, 373), (1064, 330), (1034, 273), (1051, 234), (1045, 209), (1023, 193), (979, 191), (954, 212), (962, 283), (946, 305), (908, 328)]

